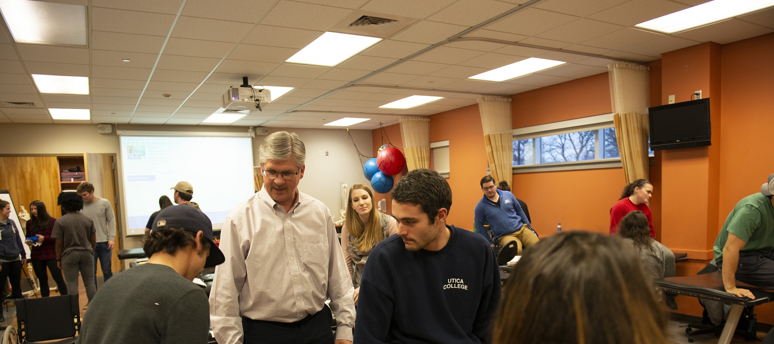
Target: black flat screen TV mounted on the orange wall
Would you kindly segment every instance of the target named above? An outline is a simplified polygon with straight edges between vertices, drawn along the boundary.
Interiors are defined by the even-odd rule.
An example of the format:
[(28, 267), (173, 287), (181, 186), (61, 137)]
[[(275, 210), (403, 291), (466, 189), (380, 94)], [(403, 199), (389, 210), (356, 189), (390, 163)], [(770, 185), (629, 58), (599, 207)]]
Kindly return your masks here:
[(650, 149), (710, 146), (710, 98), (648, 108)]

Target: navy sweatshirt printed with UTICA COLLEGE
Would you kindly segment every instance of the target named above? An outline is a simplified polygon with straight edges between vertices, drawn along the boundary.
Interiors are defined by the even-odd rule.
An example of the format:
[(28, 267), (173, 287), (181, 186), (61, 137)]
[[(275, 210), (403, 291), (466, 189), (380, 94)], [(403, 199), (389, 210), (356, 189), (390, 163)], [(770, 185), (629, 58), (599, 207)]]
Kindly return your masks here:
[(481, 235), (447, 225), (443, 249), (410, 252), (398, 235), (368, 256), (354, 342), (488, 342), (500, 299), (495, 255)]

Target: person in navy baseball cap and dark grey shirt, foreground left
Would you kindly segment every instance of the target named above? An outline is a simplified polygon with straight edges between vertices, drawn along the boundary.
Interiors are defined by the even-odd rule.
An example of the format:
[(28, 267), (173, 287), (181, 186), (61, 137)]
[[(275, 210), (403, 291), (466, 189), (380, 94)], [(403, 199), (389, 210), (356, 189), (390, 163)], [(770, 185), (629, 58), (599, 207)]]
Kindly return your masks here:
[(77, 342), (207, 342), (207, 294), (191, 282), (204, 267), (223, 263), (212, 222), (194, 207), (175, 205), (156, 215), (146, 233), (148, 262), (111, 278), (89, 304)]

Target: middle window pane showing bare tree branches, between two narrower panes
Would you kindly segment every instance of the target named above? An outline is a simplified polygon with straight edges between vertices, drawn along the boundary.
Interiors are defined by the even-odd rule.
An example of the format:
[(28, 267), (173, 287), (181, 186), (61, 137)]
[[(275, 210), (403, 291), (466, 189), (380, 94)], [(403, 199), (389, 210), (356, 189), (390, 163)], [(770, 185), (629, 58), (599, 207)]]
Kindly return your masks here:
[(594, 132), (569, 132), (540, 138), (542, 163), (561, 163), (594, 159)]

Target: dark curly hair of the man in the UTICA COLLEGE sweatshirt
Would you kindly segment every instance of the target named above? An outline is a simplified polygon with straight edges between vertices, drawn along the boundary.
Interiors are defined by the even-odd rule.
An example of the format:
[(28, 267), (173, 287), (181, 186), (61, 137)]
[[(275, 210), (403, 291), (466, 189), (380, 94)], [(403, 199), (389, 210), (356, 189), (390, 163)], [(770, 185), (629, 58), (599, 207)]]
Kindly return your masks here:
[(446, 208), (447, 214), (450, 212), (451, 187), (446, 179), (434, 170), (426, 168), (410, 170), (400, 178), (395, 189), (392, 190), (392, 200), (409, 205), (420, 205), (432, 225), (440, 208)]

